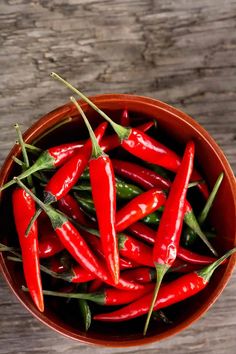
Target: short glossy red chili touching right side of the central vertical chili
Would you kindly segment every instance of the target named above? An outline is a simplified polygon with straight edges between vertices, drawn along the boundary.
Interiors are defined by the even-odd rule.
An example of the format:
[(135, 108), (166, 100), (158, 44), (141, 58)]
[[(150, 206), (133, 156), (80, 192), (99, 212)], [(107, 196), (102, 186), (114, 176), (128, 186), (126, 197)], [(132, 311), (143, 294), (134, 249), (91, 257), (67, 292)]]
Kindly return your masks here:
[(159, 209), (165, 200), (165, 193), (158, 188), (150, 189), (133, 198), (116, 213), (116, 231), (125, 230), (137, 220)]

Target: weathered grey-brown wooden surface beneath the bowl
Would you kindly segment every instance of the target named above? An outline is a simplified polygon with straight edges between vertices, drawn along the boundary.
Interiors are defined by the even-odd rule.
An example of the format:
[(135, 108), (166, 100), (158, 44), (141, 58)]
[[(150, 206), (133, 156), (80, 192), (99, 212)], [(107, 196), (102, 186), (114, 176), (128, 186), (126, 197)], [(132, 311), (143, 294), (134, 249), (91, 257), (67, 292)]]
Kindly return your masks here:
[[(67, 101), (50, 71), (87, 94), (137, 93), (192, 115), (236, 171), (236, 1), (1, 0), (0, 163), (23, 130)], [(178, 336), (94, 353), (232, 354), (236, 273), (213, 308)], [(90, 353), (45, 328), (0, 280), (0, 354)]]

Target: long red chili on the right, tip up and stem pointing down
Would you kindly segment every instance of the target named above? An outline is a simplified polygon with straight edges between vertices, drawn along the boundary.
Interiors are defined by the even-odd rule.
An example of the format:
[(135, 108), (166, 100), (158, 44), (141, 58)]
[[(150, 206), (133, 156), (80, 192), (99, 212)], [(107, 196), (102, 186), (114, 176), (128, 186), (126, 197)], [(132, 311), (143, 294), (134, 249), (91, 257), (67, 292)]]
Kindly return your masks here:
[(171, 185), (170, 193), (166, 200), (165, 209), (157, 230), (153, 249), (153, 262), (157, 272), (157, 281), (150, 310), (144, 326), (144, 335), (147, 332), (162, 279), (174, 263), (177, 256), (185, 214), (185, 200), (188, 183), (193, 170), (194, 152), (194, 143), (190, 141), (185, 148), (181, 166)]

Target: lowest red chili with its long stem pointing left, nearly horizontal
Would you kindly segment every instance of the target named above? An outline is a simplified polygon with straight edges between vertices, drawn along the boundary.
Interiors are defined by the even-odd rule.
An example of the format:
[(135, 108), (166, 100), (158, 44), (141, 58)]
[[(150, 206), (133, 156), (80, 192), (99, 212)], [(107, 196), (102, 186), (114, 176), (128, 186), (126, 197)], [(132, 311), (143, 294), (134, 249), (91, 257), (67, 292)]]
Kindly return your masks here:
[[(134, 291), (119, 290), (113, 288), (107, 288), (98, 293), (63, 293), (50, 290), (44, 290), (43, 294), (48, 296), (58, 296), (70, 299), (85, 299), (93, 301), (99, 305), (113, 306), (124, 305), (134, 300), (139, 299), (143, 295), (146, 295), (153, 289), (153, 284), (146, 284), (142, 289)], [(23, 288), (27, 291), (26, 288)]]

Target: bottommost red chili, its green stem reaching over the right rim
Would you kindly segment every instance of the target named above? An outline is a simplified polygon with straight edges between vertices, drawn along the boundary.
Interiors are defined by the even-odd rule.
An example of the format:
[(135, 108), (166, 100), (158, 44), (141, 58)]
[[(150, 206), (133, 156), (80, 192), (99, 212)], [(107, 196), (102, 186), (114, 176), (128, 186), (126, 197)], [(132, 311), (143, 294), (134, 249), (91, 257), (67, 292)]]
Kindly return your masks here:
[[(198, 270), (197, 272), (185, 274), (176, 280), (163, 285), (160, 288), (155, 301), (154, 310), (160, 310), (167, 306), (171, 306), (199, 293), (207, 286), (215, 269), (234, 252), (236, 252), (236, 248), (233, 248), (223, 257), (207, 267)], [(146, 314), (150, 308), (151, 301), (152, 292), (117, 311), (95, 315), (93, 318), (94, 320), (108, 322), (131, 320), (132, 318)]]

